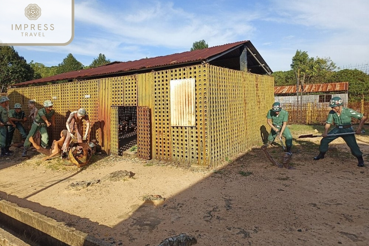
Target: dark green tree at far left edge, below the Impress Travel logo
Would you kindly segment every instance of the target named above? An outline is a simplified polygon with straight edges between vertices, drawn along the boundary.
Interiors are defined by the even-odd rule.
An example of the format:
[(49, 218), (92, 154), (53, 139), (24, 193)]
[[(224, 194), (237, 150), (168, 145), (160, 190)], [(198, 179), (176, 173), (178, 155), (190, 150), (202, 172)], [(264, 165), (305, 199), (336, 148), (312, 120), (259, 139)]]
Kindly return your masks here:
[(34, 70), (13, 46), (0, 46), (0, 91), (33, 78)]

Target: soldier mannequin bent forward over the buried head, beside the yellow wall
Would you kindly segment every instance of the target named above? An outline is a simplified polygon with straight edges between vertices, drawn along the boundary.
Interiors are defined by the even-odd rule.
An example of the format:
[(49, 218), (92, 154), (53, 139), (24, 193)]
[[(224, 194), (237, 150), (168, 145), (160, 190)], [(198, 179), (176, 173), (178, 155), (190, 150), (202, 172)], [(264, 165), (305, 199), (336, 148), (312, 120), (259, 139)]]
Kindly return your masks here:
[(287, 127), (288, 112), (282, 110), (280, 103), (273, 103), (272, 109), (268, 111), (266, 115), (266, 123), (272, 128), (268, 136), (268, 142), (265, 146), (270, 145), (276, 138), (277, 134), (284, 136), (286, 139), (286, 152), (291, 152), (292, 147), (292, 135), (290, 129)]

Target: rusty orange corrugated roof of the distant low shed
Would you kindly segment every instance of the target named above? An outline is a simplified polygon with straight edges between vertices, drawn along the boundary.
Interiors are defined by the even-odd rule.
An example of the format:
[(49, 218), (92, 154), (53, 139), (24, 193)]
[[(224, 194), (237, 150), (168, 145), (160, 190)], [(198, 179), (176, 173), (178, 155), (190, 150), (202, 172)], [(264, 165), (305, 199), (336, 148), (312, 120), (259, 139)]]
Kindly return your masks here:
[[(327, 91), (347, 91), (348, 82), (325, 83), (325, 84), (306, 84), (303, 93), (309, 92), (327, 92)], [(301, 86), (299, 86), (301, 92)], [(290, 94), (297, 93), (296, 86), (275, 86), (274, 94)]]

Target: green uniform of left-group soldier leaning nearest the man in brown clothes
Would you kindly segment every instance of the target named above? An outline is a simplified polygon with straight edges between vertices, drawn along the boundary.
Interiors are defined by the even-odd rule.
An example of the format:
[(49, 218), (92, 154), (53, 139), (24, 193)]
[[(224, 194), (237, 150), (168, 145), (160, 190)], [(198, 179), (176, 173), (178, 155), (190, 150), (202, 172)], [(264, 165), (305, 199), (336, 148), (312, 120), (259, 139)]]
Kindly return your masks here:
[(49, 144), (49, 135), (47, 133), (47, 125), (44, 119), (41, 118), (41, 116), (45, 116), (48, 121), (51, 120), (51, 117), (55, 114), (55, 110), (50, 110), (49, 113), (46, 113), (45, 108), (41, 108), (38, 110), (37, 115), (35, 117), (34, 122), (32, 123), (32, 127), (30, 132), (28, 133), (28, 136), (26, 140), (24, 141), (24, 147), (29, 148), (31, 146), (30, 137), (34, 136), (37, 131), (41, 134), (41, 145), (43, 147), (48, 146)]

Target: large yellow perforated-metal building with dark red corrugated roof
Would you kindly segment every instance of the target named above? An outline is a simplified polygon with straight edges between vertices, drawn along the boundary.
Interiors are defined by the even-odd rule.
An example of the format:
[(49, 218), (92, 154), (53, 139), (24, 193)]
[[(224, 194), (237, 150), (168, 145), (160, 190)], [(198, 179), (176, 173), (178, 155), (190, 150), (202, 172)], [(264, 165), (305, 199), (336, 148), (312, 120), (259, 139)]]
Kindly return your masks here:
[(52, 100), (51, 141), (71, 111), (85, 108), (89, 139), (107, 154), (137, 145), (144, 159), (214, 168), (265, 140), (271, 73), (254, 45), (240, 41), (13, 84), (8, 95), (38, 107)]

